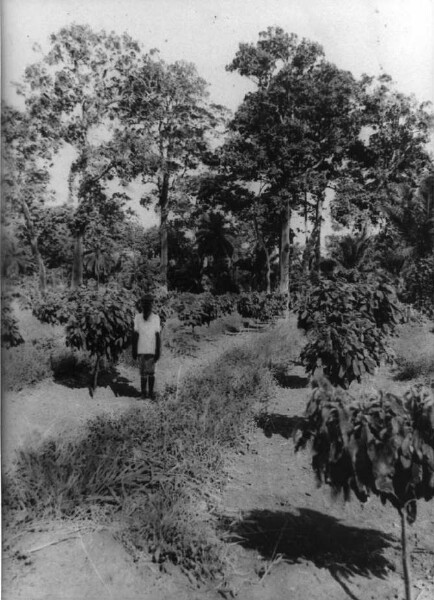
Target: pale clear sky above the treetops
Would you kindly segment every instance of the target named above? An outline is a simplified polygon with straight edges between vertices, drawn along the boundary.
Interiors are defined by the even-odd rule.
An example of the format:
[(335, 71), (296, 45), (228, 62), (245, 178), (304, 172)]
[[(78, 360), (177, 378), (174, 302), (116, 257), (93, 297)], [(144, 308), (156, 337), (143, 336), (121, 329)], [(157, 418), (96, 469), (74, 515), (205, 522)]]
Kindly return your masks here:
[[(2, 0), (2, 13), (2, 96), (17, 106), (11, 82), (39, 59), (34, 45), (47, 49), (49, 35), (74, 22), (194, 62), (212, 101), (231, 110), (251, 84), (225, 66), (269, 26), (319, 42), (356, 77), (388, 73), (400, 91), (434, 103), (434, 0)], [(55, 178), (61, 187), (63, 172)]]

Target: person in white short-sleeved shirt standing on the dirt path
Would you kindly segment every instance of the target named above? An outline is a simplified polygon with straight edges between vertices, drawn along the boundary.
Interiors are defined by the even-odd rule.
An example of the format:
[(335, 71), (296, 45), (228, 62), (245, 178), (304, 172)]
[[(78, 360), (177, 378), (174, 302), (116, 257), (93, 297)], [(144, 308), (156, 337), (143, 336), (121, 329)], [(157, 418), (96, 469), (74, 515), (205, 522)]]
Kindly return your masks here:
[(142, 398), (154, 398), (155, 363), (161, 354), (160, 317), (152, 312), (153, 298), (140, 301), (141, 313), (134, 317), (133, 358), (139, 360)]

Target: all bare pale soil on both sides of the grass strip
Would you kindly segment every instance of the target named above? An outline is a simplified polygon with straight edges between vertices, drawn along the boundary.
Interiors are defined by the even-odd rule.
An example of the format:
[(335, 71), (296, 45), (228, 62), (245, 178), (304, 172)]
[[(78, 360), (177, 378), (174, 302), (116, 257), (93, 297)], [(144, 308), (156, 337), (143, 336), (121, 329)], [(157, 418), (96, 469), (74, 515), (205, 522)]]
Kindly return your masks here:
[[(407, 337), (406, 337), (407, 336)], [(408, 344), (409, 329), (397, 344)], [(166, 353), (157, 372), (159, 389), (176, 385), (190, 369), (212, 364), (223, 352), (261, 333), (203, 337), (195, 356)], [(426, 327), (414, 327), (412, 344), (434, 342)], [(432, 347), (432, 346), (431, 346)], [(382, 369), (364, 384), (402, 391)], [(119, 370), (117, 386), (90, 398), (86, 387), (43, 381), (3, 399), (3, 468), (20, 447), (53, 435), (74, 435), (87, 419), (117, 413), (146, 401), (137, 397), (138, 373)], [(357, 391), (356, 389), (354, 390)], [(115, 395), (118, 394), (118, 395)], [(398, 514), (376, 499), (332, 499), (318, 489), (307, 453), (294, 453), (292, 432), (309, 396), (303, 369), (290, 365), (268, 414), (251, 428), (246, 447), (228, 457), (228, 483), (220, 499), (220, 533), (228, 544), (230, 587), (240, 600), (395, 600), (404, 598)], [(96, 515), (97, 517), (97, 515)], [(214, 600), (215, 587), (198, 588), (175, 567), (137, 564), (114, 525), (98, 519), (18, 523), (3, 536), (5, 600)], [(434, 599), (434, 506), (419, 503), (409, 532), (414, 598)], [(226, 597), (229, 597), (228, 595)]]

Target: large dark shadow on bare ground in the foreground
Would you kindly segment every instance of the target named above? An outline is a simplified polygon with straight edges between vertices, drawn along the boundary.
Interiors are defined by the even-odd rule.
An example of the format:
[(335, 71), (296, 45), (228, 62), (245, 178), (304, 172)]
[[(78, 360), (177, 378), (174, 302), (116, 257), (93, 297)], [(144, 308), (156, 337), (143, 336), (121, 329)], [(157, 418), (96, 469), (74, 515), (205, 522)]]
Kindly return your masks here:
[(225, 523), (223, 518), (222, 528), (229, 541), (259, 552), (267, 560), (280, 555), (288, 562), (304, 559), (326, 568), (343, 587), (342, 578), (384, 578), (394, 569), (383, 556), (383, 550), (395, 541), (392, 536), (345, 525), (308, 508), (294, 512), (254, 510), (236, 522)]

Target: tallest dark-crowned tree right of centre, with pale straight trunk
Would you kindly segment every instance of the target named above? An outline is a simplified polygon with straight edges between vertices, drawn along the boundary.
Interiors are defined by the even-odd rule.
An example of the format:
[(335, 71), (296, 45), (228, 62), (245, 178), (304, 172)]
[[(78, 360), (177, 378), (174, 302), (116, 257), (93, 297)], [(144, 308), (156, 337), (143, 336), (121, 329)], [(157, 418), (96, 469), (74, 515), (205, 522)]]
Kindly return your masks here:
[[(324, 60), (322, 48), (280, 28), (260, 33), (256, 45), (240, 44), (227, 67), (253, 79), (231, 122), (231, 154), (238, 176), (256, 181), (273, 199), (280, 223), (280, 291), (288, 293), (290, 224), (312, 173), (329, 182), (345, 147), (358, 134), (357, 86), (349, 73)], [(321, 202), (324, 190), (319, 196)], [(321, 219), (321, 211), (317, 221)]]

